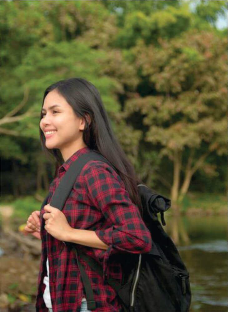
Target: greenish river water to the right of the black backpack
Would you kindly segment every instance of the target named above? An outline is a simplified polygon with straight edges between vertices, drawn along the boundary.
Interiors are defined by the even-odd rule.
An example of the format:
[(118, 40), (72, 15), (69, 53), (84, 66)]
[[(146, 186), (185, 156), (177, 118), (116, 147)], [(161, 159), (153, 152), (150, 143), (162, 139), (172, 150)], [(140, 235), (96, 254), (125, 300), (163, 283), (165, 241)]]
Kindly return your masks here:
[(227, 311), (227, 217), (169, 218), (166, 230), (190, 273), (190, 311)]

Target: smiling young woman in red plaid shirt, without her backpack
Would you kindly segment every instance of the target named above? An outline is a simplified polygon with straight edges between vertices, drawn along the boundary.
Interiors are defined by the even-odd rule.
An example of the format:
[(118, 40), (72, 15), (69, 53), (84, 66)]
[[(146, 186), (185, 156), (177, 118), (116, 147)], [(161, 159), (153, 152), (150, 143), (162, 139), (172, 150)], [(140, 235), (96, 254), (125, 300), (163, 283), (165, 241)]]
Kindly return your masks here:
[(140, 215), (134, 169), (117, 142), (99, 92), (85, 79), (71, 78), (49, 86), (43, 97), (40, 137), (57, 162), (50, 203), (71, 164), (92, 149), (113, 166), (89, 161), (77, 177), (62, 211), (49, 204), (33, 212), (26, 231), (42, 239), (37, 311), (88, 311), (75, 253), (68, 242), (102, 264), (104, 276), (81, 263), (90, 279), (96, 309), (121, 311), (106, 278), (121, 282), (118, 253), (145, 253), (150, 232)]

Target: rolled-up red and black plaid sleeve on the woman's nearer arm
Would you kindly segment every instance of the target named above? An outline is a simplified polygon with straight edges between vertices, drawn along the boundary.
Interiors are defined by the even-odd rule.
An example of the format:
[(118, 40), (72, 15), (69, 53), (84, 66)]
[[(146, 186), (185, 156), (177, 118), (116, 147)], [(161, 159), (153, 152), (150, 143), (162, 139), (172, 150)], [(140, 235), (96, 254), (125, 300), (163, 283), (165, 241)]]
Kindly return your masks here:
[(85, 170), (84, 178), (88, 196), (106, 219), (105, 228), (95, 231), (109, 246), (104, 256), (104, 272), (111, 253), (150, 251), (150, 232), (114, 170), (105, 163), (92, 165)]

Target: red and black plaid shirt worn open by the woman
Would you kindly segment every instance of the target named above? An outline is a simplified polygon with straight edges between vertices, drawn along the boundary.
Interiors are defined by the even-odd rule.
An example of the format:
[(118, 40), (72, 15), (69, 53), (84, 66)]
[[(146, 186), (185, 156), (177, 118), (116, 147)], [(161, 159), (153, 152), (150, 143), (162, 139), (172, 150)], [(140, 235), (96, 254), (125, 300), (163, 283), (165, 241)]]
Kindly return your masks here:
[[(74, 153), (58, 169), (57, 177), (50, 184), (48, 203), (61, 178), (80, 155), (89, 153), (85, 147)], [(104, 276), (121, 282), (121, 265), (115, 261), (120, 252), (144, 253), (151, 249), (151, 235), (142, 221), (136, 205), (126, 192), (126, 188), (116, 171), (102, 161), (89, 161), (77, 177), (73, 189), (65, 202), (62, 212), (70, 226), (95, 231), (97, 236), (109, 246), (107, 250), (77, 244), (98, 263), (102, 264)], [(72, 248), (50, 234), (46, 236), (41, 209), (42, 256), (38, 277), (37, 311), (48, 311), (44, 301), (47, 275), (46, 259), (49, 260), (49, 283), (53, 311), (80, 311), (82, 297), (86, 297), (80, 278), (76, 257)], [(82, 259), (85, 271), (91, 281), (96, 301), (94, 311), (121, 311), (116, 291), (105, 278), (92, 271)]]

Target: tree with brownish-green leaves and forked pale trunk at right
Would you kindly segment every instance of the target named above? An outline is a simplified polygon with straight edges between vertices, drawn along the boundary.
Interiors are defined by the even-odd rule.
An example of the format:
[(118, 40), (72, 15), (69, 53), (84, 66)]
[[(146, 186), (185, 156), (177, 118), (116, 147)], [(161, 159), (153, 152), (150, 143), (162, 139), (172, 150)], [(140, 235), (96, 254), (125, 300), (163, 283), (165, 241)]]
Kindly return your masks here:
[(227, 40), (190, 32), (160, 44), (147, 47), (140, 41), (132, 50), (149, 91), (126, 102), (125, 116), (140, 113), (147, 126), (145, 141), (173, 163), (171, 198), (177, 202), (196, 170), (209, 169), (207, 156), (226, 153)]

